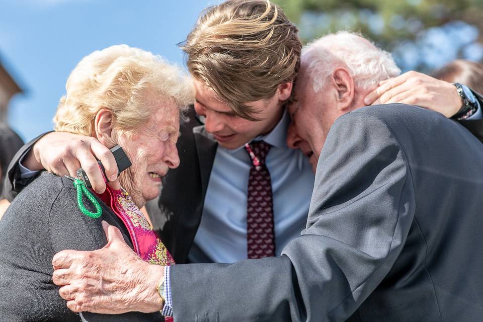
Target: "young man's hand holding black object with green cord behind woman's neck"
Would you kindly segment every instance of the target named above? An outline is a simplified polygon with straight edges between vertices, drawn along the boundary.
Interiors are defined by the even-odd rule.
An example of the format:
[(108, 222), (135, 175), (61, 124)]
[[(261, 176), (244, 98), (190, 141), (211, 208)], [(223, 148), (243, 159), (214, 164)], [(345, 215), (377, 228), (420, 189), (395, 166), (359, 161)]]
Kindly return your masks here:
[(52, 132), (33, 147), (24, 159), (24, 166), (30, 170), (45, 169), (58, 176), (70, 175), (77, 177), (79, 168), (86, 171), (94, 190), (104, 192), (106, 184), (97, 164), (101, 160), (107, 179), (117, 178), (117, 164), (109, 148), (101, 144), (96, 138), (65, 132)]

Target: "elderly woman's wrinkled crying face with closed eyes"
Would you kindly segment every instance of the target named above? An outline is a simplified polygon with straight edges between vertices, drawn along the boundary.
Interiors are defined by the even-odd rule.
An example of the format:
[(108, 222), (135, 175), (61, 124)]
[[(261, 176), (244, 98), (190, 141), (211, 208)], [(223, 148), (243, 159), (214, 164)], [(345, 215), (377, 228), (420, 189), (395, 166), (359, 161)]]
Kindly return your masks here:
[(118, 137), (132, 164), (119, 180), (138, 207), (157, 197), (161, 178), (180, 164), (176, 148), (180, 132), (178, 108), (155, 99), (148, 99), (147, 104), (152, 114), (146, 124), (130, 136), (122, 133)]

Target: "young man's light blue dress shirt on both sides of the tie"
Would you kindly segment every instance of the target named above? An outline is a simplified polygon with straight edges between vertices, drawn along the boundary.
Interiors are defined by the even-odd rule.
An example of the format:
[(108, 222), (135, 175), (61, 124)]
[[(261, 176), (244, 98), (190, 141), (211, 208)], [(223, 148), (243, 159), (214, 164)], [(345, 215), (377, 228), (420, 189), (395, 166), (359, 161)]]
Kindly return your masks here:
[[(314, 174), (300, 150), (287, 146), (288, 113), (267, 135), (256, 137), (272, 145), (266, 165), (273, 193), (275, 252), (300, 235), (307, 221)], [(228, 150), (218, 145), (205, 196), (201, 223), (190, 252), (192, 262), (203, 262), (201, 250), (216, 263), (247, 259), (247, 194), (250, 157), (243, 146)]]

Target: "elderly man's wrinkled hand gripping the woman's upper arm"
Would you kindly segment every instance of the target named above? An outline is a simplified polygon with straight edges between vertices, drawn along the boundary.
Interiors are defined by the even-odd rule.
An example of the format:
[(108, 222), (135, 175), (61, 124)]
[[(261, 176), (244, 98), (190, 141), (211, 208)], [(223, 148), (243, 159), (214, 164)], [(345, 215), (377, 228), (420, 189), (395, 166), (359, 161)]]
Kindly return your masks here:
[(55, 284), (74, 312), (118, 314), (155, 312), (161, 307), (156, 286), (164, 267), (150, 265), (127, 244), (118, 228), (103, 221), (107, 245), (96, 251), (61, 251), (52, 259)]

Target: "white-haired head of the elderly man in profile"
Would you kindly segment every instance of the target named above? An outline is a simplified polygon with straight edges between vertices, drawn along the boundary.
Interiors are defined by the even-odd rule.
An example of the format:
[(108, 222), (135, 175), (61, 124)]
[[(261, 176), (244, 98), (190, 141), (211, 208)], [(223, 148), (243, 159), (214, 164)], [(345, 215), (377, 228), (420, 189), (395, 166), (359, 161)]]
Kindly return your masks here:
[[(320, 152), (322, 149), (334, 121), (341, 115), (364, 106), (364, 98), (376, 89), (381, 81), (398, 76), (401, 70), (388, 52), (380, 50), (368, 40), (346, 31), (327, 35), (305, 46), (301, 64), (295, 93), (296, 103), (289, 108), (292, 123), (287, 141), (293, 148), (300, 147), (309, 158), (315, 172), (319, 153), (314, 152)], [(350, 89), (342, 89), (352, 90), (352, 93), (347, 93), (350, 95), (347, 98), (347, 104), (336, 109), (328, 101), (336, 98), (323, 96), (321, 92), (327, 89), (331, 84), (330, 81), (339, 82), (344, 77), (351, 77), (354, 86)], [(344, 93), (337, 93), (337, 99), (342, 94)], [(312, 115), (311, 117), (321, 123), (321, 132), (316, 133), (319, 136), (318, 146), (315, 147), (309, 147), (306, 141), (301, 142), (294, 131), (295, 113), (299, 106), (305, 105), (317, 107), (316, 110), (314, 109), (317, 116)], [(303, 116), (305, 117), (307, 114), (304, 113)], [(299, 131), (314, 130), (303, 124), (299, 127)]]

